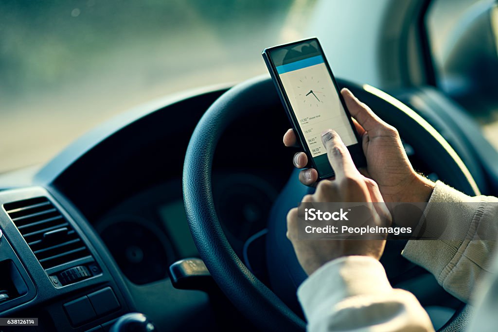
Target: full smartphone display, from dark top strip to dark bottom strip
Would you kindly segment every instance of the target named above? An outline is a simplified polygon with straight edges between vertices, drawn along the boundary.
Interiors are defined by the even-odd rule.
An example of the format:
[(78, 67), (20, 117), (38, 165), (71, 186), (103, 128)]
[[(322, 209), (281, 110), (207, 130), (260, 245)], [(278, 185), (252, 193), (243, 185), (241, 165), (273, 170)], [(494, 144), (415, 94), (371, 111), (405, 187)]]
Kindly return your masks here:
[(319, 174), (332, 173), (321, 132), (334, 129), (346, 146), (358, 144), (316, 40), (271, 49), (271, 61)]

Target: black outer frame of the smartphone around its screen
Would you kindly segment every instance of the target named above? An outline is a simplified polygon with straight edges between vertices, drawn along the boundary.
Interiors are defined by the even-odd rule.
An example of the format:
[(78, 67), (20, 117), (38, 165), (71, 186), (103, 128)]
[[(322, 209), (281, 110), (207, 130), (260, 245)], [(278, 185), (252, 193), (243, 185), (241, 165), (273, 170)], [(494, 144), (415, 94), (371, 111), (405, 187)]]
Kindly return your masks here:
[[(322, 45), (318, 41), (318, 38), (311, 37), (311, 38), (297, 40), (297, 41), (294, 41), (294, 42), (291, 42), (291, 43), (287, 43), (287, 44), (281, 44), (281, 45), (277, 45), (277, 46), (273, 46), (273, 47), (268, 47), (268, 48), (265, 48), (261, 54), (262, 54), (263, 59), (264, 59), (264, 61), (266, 63), (266, 66), (268, 67), (268, 70), (270, 72), (270, 76), (271, 76), (271, 78), (273, 80), (273, 83), (275, 84), (275, 87), (277, 88), (278, 95), (280, 97), (280, 100), (282, 101), (282, 104), (283, 104), (284, 109), (285, 109), (285, 111), (287, 113), (287, 116), (289, 117), (289, 120), (290, 120), (290, 122), (292, 124), (292, 127), (294, 129), (294, 132), (297, 132), (297, 136), (299, 138), (301, 146), (303, 147), (303, 149), (305, 150), (305, 152), (306, 152), (306, 154), (308, 156), (308, 162), (312, 165), (313, 168), (315, 168), (317, 170), (317, 172), (318, 172), (318, 178), (320, 180), (322, 180), (322, 179), (328, 179), (328, 178), (333, 177), (335, 175), (334, 171), (332, 171), (332, 173), (330, 173), (330, 174), (320, 174), (320, 170), (316, 167), (314, 158), (312, 157), (311, 151), (310, 151), (310, 149), (308, 147), (308, 144), (306, 143), (306, 139), (304, 138), (304, 134), (303, 134), (303, 132), (301, 130), (301, 127), (299, 126), (299, 122), (297, 121), (296, 114), (294, 113), (294, 111), (292, 109), (292, 106), (291, 106), (290, 101), (288, 99), (287, 93), (285, 92), (285, 89), (283, 87), (282, 81), (280, 80), (280, 77), (278, 76), (278, 73), (276, 71), (276, 67), (273, 64), (273, 61), (271, 60), (271, 56), (270, 56), (270, 52), (272, 52), (272, 51), (274, 51), (276, 49), (279, 49), (279, 48), (282, 48), (282, 47), (289, 47), (289, 46), (292, 46), (292, 45), (297, 45), (297, 44), (306, 43), (306, 42), (310, 42), (310, 41), (316, 41), (316, 43), (318, 45), (319, 51), (320, 51), (320, 53), (321, 53), (321, 55), (323, 57), (323, 62), (325, 64), (325, 67), (327, 68), (327, 70), (329, 72), (329, 75), (330, 75), (330, 77), (332, 79), (332, 82), (333, 82), (334, 87), (335, 87), (335, 89), (337, 91), (337, 94), (339, 95), (339, 100), (341, 101), (341, 104), (342, 104), (342, 106), (343, 106), (343, 108), (344, 108), (344, 110), (346, 112), (346, 115), (348, 117), (348, 120), (349, 120), (349, 123), (351, 125), (351, 128), (353, 129), (353, 132), (355, 133), (356, 139), (358, 141), (358, 143), (352, 144), (352, 145), (348, 146), (348, 150), (350, 150), (350, 152), (356, 152), (356, 151), (351, 151), (352, 150), (351, 148), (355, 147), (355, 146), (359, 146), (360, 151), (361, 151), (361, 155), (359, 155), (358, 153), (352, 153), (353, 161), (355, 162), (356, 167), (365, 166), (365, 164), (366, 164), (366, 162), (365, 162), (365, 156), (363, 154), (363, 148), (361, 146), (362, 139), (361, 139), (360, 135), (358, 134), (358, 131), (356, 130), (356, 127), (355, 127), (355, 124), (353, 122), (351, 113), (348, 110), (348, 108), (346, 106), (346, 103), (344, 102), (342, 94), (341, 94), (341, 92), (339, 90), (339, 86), (337, 85), (337, 82), (336, 82), (336, 79), (334, 77), (334, 74), (332, 73), (332, 69), (330, 69), (329, 62), (327, 61), (327, 58), (325, 57), (325, 53), (323, 51)], [(355, 150), (358, 150), (358, 148), (356, 148)]]

